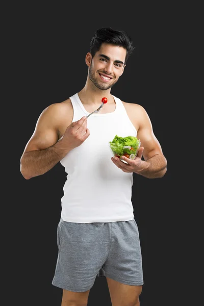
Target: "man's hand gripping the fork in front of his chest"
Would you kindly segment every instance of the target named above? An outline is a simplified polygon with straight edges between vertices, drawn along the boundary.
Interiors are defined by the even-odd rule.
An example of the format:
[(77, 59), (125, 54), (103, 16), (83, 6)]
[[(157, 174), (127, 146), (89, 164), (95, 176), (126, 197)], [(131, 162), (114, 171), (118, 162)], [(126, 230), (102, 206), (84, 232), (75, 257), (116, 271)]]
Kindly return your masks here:
[(72, 122), (66, 129), (62, 142), (70, 149), (80, 146), (90, 135), (87, 129), (87, 118), (84, 116), (78, 121)]

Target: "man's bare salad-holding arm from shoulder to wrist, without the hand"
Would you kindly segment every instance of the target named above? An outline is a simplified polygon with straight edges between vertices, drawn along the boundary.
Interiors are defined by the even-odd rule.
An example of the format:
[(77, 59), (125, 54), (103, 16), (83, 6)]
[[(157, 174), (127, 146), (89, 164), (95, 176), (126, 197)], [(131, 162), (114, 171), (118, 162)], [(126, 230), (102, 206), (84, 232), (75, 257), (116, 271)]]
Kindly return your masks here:
[(154, 179), (162, 177), (167, 171), (167, 160), (163, 155), (161, 145), (152, 130), (152, 124), (143, 107), (140, 106), (140, 124), (137, 138), (140, 139), (139, 155), (144, 157), (137, 174)]

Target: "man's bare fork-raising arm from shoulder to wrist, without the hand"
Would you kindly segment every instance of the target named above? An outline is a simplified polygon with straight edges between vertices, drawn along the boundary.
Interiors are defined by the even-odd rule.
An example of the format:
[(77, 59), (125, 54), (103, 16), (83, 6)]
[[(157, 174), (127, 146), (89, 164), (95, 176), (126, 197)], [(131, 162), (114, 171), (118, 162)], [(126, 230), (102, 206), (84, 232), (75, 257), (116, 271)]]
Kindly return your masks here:
[(25, 179), (44, 174), (68, 152), (58, 142), (59, 106), (50, 105), (40, 114), (35, 131), (25, 146), (20, 159), (20, 172)]

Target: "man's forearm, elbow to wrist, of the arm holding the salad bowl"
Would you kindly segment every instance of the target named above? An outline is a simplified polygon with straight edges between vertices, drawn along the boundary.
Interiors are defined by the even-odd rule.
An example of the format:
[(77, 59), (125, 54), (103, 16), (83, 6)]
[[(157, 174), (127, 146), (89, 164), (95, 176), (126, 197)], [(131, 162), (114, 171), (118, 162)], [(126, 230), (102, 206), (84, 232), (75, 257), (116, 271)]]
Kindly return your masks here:
[(166, 173), (167, 161), (162, 155), (155, 155), (141, 162), (141, 169), (136, 173), (147, 177), (147, 179), (156, 179)]

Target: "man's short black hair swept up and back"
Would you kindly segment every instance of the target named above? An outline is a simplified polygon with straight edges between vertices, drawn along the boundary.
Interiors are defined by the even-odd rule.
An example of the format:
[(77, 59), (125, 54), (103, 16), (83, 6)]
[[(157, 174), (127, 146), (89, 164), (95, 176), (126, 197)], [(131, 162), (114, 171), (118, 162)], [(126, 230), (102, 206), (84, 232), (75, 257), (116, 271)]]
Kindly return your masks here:
[(96, 30), (95, 35), (91, 39), (90, 53), (92, 57), (94, 57), (96, 52), (100, 49), (100, 46), (103, 42), (116, 46), (121, 46), (126, 49), (124, 64), (135, 49), (130, 35), (127, 34), (125, 31), (116, 31), (110, 27), (100, 28)]

